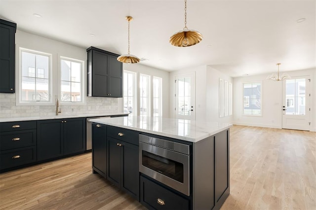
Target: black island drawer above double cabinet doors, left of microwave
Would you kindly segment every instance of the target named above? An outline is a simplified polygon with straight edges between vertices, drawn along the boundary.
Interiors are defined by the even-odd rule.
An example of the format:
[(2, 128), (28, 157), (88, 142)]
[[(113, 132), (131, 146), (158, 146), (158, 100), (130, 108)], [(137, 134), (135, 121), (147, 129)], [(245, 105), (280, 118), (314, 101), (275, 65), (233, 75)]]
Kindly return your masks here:
[[(128, 143), (132, 143), (135, 145), (138, 145), (138, 132), (113, 127), (113, 126), (107, 126), (107, 134), (109, 137), (115, 138), (117, 140), (126, 141)], [(120, 134), (120, 135), (119, 135)]]

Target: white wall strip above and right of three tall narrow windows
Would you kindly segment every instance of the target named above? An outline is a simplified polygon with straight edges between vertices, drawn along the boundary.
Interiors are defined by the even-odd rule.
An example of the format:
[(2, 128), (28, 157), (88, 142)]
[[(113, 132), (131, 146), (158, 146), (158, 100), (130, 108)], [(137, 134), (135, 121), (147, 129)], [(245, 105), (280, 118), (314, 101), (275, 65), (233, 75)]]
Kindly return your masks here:
[[(162, 78), (162, 117), (169, 116), (169, 72), (155, 69), (141, 64), (123, 64), (123, 70), (128, 70), (137, 73), (137, 81), (139, 74), (150, 75)], [(138, 87), (138, 86), (137, 86)], [(138, 90), (138, 88), (137, 88)], [(138, 94), (137, 94), (138, 95)], [(118, 99), (118, 107), (123, 108), (122, 99)]]

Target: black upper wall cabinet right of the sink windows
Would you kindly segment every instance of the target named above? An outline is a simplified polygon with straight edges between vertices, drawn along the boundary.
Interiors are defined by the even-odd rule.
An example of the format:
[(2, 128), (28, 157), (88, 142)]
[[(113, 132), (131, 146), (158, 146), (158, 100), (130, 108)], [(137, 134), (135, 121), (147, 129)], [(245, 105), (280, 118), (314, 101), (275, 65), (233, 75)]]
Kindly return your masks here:
[(117, 54), (89, 47), (88, 96), (122, 97), (123, 65)]

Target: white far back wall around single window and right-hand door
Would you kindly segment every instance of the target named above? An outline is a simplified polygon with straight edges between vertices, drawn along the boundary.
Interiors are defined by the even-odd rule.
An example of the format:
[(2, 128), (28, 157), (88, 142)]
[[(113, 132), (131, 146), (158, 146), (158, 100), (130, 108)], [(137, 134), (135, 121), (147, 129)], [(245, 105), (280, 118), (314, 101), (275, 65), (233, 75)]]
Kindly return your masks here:
[[(287, 72), (290, 76), (309, 75), (311, 77), (311, 130), (316, 131), (316, 70)], [(235, 77), (233, 82), (234, 124), (282, 128), (282, 82), (266, 79), (270, 74)], [(243, 83), (262, 82), (262, 116), (243, 115)]]

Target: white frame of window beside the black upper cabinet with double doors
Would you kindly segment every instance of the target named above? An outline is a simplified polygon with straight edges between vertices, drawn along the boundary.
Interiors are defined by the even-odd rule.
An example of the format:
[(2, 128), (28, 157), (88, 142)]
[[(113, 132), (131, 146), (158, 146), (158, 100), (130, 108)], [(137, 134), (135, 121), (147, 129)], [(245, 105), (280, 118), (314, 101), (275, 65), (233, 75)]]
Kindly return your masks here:
[[(76, 101), (62, 101), (61, 100), (61, 84), (62, 84), (62, 80), (61, 80), (61, 60), (66, 60), (66, 61), (70, 61), (70, 62), (77, 62), (81, 64), (81, 74), (80, 74), (80, 89), (81, 89), (81, 102), (76, 102)], [(58, 76), (57, 76), (57, 97), (59, 100), (60, 105), (86, 105), (86, 76), (84, 73), (84, 65), (85, 62), (79, 59), (75, 59), (75, 58), (70, 58), (70, 57), (66, 57), (66, 56), (59, 56), (58, 58)]]

